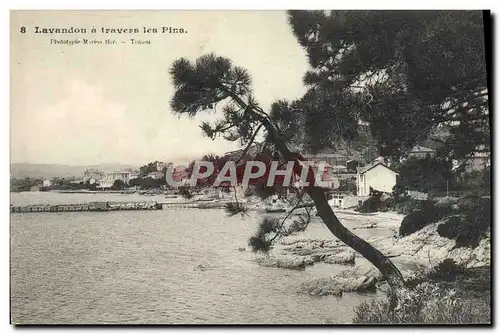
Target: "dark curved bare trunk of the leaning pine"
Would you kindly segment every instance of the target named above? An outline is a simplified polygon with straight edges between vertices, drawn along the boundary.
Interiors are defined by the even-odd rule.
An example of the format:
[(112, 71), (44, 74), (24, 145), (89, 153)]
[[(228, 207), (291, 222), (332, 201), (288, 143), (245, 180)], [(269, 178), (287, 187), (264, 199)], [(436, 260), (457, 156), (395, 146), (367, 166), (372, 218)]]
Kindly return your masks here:
[[(295, 161), (296, 165), (301, 165), (301, 161), (304, 161), (304, 158), (297, 153), (291, 152), (285, 141), (281, 136), (279, 136), (278, 131), (276, 130), (273, 123), (269, 120), (267, 115), (262, 110), (254, 110), (255, 107), (248, 106), (243, 100), (241, 100), (236, 94), (233, 94), (229, 91), (228, 95), (233, 98), (242, 108), (244, 108), (247, 112), (250, 112), (255, 120), (264, 125), (268, 132), (268, 139), (275, 145), (277, 150), (283, 155), (285, 160)], [(297, 175), (301, 175), (301, 169), (304, 167), (299, 167), (295, 173)], [(308, 168), (308, 174), (312, 173), (312, 168), (310, 166)], [(400, 300), (401, 297), (404, 296), (407, 288), (401, 272), (399, 269), (392, 263), (392, 261), (382, 254), (378, 249), (373, 247), (371, 244), (358, 237), (351, 231), (349, 231), (342, 223), (339, 221), (332, 208), (328, 204), (324, 191), (317, 186), (310, 186), (307, 190), (309, 196), (311, 196), (314, 204), (316, 206), (316, 210), (318, 211), (318, 215), (320, 216), (323, 223), (328, 227), (328, 229), (344, 242), (346, 245), (360, 253), (364, 258), (370, 261), (384, 276), (387, 280), (387, 283), (392, 289), (395, 297)]]

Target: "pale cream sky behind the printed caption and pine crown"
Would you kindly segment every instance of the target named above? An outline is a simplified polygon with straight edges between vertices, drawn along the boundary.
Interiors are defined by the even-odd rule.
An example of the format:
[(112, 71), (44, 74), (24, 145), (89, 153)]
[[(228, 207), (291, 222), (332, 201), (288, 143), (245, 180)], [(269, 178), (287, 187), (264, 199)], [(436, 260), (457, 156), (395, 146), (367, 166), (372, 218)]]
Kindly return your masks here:
[[(36, 26), (87, 33), (41, 34)], [(100, 32), (143, 27), (187, 33)], [(51, 38), (117, 44), (61, 45)], [(133, 45), (130, 38), (151, 44)], [(249, 71), (264, 109), (305, 92), (306, 55), (284, 11), (12, 11), (11, 163), (175, 163), (238, 149), (237, 143), (203, 136), (201, 121), (218, 114), (188, 118), (169, 107), (172, 62), (210, 52)]]

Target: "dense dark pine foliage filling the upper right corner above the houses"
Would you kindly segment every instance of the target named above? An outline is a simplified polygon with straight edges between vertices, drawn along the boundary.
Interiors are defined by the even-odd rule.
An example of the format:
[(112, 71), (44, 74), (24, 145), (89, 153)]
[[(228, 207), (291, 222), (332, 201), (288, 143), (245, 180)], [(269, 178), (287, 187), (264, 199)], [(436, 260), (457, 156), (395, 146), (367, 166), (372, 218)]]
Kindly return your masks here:
[[(305, 115), (317, 124), (312, 142), (338, 144), (325, 131), (342, 119), (349, 124), (350, 115), (369, 124), (381, 155), (404, 155), (427, 139), (444, 144), (449, 159), (489, 152), (481, 12), (291, 11), (289, 20), (311, 65), (308, 94), (336, 95), (335, 103), (314, 108), (322, 124), (315, 112)], [(366, 103), (352, 103), (356, 94)], [(444, 128), (445, 138), (433, 136)]]

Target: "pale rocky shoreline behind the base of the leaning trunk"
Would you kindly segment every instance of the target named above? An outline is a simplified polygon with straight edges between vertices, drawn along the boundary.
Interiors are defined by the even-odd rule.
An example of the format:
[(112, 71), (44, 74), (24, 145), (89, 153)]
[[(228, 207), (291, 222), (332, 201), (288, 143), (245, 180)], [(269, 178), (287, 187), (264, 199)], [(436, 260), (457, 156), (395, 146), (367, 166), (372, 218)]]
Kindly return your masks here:
[[(356, 212), (337, 212), (339, 218), (358, 215)], [(407, 281), (421, 278), (431, 268), (444, 259), (452, 259), (464, 268), (478, 268), (490, 265), (490, 237), (483, 239), (479, 246), (455, 247), (455, 241), (440, 237), (437, 227), (441, 222), (429, 225), (406, 237), (398, 236), (398, 228), (404, 216), (393, 212), (372, 214), (369, 217), (358, 215), (356, 224), (347, 225), (353, 233), (370, 229), (376, 234), (377, 229), (393, 231), (392, 235), (380, 235), (367, 238), (400, 269)], [(343, 244), (334, 236), (328, 239), (313, 239), (301, 234), (284, 237), (277, 244), (272, 254), (256, 259), (260, 266), (283, 269), (305, 270), (317, 262), (342, 264), (346, 269), (324, 278), (302, 282), (297, 292), (310, 295), (341, 296), (343, 292), (375, 291), (384, 285), (380, 272), (369, 264), (360, 254)]]

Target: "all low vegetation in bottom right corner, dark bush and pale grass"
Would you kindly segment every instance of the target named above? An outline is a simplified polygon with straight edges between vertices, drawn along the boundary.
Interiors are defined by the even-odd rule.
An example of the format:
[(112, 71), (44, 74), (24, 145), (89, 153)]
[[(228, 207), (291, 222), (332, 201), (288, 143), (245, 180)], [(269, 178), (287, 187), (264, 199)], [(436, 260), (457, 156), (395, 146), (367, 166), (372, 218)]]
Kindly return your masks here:
[(491, 268), (467, 269), (445, 259), (408, 282), (411, 294), (394, 307), (391, 298), (356, 307), (356, 324), (490, 324)]

